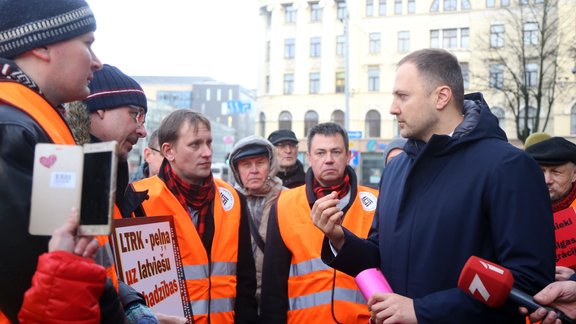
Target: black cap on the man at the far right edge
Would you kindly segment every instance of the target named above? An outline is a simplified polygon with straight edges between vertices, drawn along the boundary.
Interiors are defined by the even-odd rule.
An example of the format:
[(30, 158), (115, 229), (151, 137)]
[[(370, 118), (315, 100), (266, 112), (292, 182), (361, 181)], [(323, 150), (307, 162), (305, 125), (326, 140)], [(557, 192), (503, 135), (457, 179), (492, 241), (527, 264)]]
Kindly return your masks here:
[(526, 149), (526, 153), (542, 165), (576, 163), (576, 144), (563, 137), (552, 137), (533, 144)]

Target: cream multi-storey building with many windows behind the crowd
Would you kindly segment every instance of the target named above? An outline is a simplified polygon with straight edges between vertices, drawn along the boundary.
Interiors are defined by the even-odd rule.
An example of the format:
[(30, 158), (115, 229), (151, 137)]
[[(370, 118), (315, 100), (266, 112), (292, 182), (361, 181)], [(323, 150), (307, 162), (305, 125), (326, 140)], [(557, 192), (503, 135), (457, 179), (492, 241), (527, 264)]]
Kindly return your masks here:
[[(518, 2), (520, 1), (520, 2)], [(557, 52), (550, 118), (544, 131), (576, 136), (576, 1), (554, 0), (546, 14), (557, 21), (553, 36), (539, 30), (549, 0), (260, 0), (264, 36), (256, 109), (256, 133), (292, 129), (304, 144), (318, 122), (334, 121), (351, 135), (361, 181), (377, 185), (381, 152), (398, 136), (389, 114), (396, 63), (411, 51), (444, 48), (461, 62), (466, 92), (481, 91), (511, 142), (516, 115), (502, 82), (514, 75), (517, 57), (503, 52), (521, 41), (530, 48), (520, 72), (534, 91), (548, 65), (537, 65), (538, 44)], [(540, 8), (540, 9), (538, 9)], [(528, 10), (530, 9), (530, 10)], [(528, 12), (531, 12), (529, 14)], [(550, 31), (549, 31), (550, 32)], [(534, 52), (534, 53), (533, 53)], [(536, 53), (537, 54), (537, 53)], [(510, 67), (509, 67), (510, 66)], [(510, 69), (510, 70), (508, 70)], [(346, 87), (346, 85), (348, 87)], [(542, 92), (542, 91), (541, 91)], [(546, 101), (546, 99), (543, 99)], [(535, 103), (520, 114), (534, 113)], [(348, 112), (348, 114), (346, 114)], [(543, 121), (546, 110), (540, 112)], [(542, 131), (542, 128), (539, 129)], [(304, 151), (306, 145), (300, 145)]]

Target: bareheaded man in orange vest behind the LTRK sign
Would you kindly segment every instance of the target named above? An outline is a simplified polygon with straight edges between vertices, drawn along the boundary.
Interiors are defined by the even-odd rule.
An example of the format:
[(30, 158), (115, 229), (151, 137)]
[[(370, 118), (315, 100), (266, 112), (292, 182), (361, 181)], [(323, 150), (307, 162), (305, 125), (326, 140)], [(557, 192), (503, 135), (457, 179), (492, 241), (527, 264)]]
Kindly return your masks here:
[(195, 323), (254, 323), (256, 270), (245, 199), (213, 178), (210, 121), (189, 109), (158, 129), (157, 176), (131, 184), (135, 216), (173, 215)]

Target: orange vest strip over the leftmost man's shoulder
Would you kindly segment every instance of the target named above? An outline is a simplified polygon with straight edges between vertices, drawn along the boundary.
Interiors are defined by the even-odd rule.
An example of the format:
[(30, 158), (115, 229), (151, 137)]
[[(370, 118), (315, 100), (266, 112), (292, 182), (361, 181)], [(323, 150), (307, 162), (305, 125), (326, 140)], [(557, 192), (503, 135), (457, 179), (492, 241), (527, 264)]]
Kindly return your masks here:
[(76, 144), (66, 121), (52, 105), (34, 90), (17, 82), (0, 82), (0, 101), (34, 119), (55, 144)]

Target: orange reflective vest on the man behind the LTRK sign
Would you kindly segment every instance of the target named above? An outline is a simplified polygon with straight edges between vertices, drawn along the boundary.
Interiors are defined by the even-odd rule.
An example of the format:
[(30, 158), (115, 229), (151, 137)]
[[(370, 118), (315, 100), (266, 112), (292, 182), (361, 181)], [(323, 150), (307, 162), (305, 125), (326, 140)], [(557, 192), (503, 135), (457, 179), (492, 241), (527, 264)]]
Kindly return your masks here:
[(240, 197), (229, 184), (214, 179), (214, 239), (208, 255), (192, 218), (157, 176), (132, 183), (134, 190), (148, 190), (142, 203), (148, 216), (174, 216), (188, 299), (195, 323), (234, 323)]

